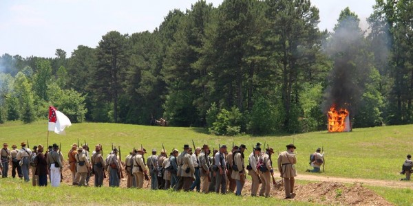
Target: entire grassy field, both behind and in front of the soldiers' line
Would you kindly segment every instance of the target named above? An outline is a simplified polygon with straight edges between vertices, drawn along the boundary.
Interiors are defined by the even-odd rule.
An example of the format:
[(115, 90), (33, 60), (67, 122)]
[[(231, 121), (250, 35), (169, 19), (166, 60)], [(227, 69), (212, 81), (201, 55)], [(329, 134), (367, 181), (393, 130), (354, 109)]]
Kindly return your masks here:
[[(385, 126), (378, 128), (354, 129), (352, 133), (327, 133), (326, 131), (305, 133), (286, 136), (264, 136), (252, 137), (248, 135), (237, 137), (223, 137), (209, 135), (202, 128), (175, 128), (158, 126), (137, 126), (129, 124), (96, 124), (83, 123), (73, 124), (67, 128), (67, 135), (56, 135), (50, 133), (49, 144), (61, 144), (62, 150), (68, 152), (73, 143), (86, 141), (89, 145), (103, 144), (105, 153), (114, 146), (120, 146), (123, 159), (132, 148), (140, 147), (142, 144), (147, 150), (156, 148), (160, 150), (163, 143), (170, 151), (172, 148), (182, 150), (184, 144), (191, 145), (191, 140), (196, 146), (209, 144), (211, 148), (218, 148), (218, 144), (231, 146), (246, 144), (248, 154), (252, 145), (256, 142), (266, 142), (276, 151), (285, 150), (286, 144), (295, 143), (297, 146), (297, 169), (299, 173), (309, 168), (308, 156), (317, 147), (324, 146), (326, 153), (326, 174), (328, 176), (343, 176), (350, 178), (383, 179), (396, 181), (402, 176), (399, 174), (401, 164), (410, 150), (413, 126)], [(47, 122), (35, 122), (33, 124), (21, 124), (21, 122), (8, 122), (0, 125), (0, 142), (9, 145), (20, 145), (21, 141), (29, 141), (30, 147), (34, 144), (46, 144)], [(412, 154), (413, 155), (413, 154)], [(276, 157), (273, 157), (275, 160)], [(8, 185), (3, 187), (3, 185)], [(23, 183), (12, 179), (0, 181), (1, 203), (61, 203), (67, 198), (80, 200), (83, 196), (92, 196), (87, 203), (115, 204), (123, 203), (130, 205), (153, 204), (155, 201), (160, 205), (180, 205), (184, 201), (195, 205), (217, 203), (228, 205), (233, 203), (233, 196), (216, 196), (215, 194), (186, 196), (184, 193), (169, 191), (149, 192), (147, 190), (122, 190), (106, 188), (103, 193), (96, 188), (76, 188), (76, 192), (70, 186), (63, 185), (61, 190), (51, 187), (37, 188), (24, 187)], [(384, 196), (396, 205), (412, 205), (412, 191), (408, 189), (391, 189), (386, 187), (371, 187), (372, 190)], [(22, 192), (16, 196), (14, 192)], [(71, 191), (71, 192), (70, 192)], [(149, 195), (150, 193), (150, 195)], [(36, 195), (31, 195), (36, 194)], [(39, 195), (38, 195), (39, 194)], [(199, 195), (199, 197), (198, 197)], [(163, 198), (168, 196), (169, 198)], [(45, 198), (46, 197), (46, 198)], [(218, 203), (218, 198), (222, 200)], [(193, 200), (196, 200), (195, 202)], [(262, 198), (247, 198), (248, 205), (265, 205), (268, 203), (276, 205), (288, 205), (288, 201), (271, 198), (271, 201), (262, 201)], [(5, 202), (4, 202), (5, 201)], [(243, 202), (244, 203), (244, 202)], [(294, 205), (301, 204), (294, 202)], [(308, 205), (308, 203), (302, 203)]]

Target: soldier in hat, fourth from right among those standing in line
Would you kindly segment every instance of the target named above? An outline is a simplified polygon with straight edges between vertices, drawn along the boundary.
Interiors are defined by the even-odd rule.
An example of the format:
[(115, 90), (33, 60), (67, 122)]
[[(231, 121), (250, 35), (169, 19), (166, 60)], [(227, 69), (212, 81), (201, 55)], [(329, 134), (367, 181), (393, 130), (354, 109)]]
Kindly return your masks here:
[(245, 184), (245, 165), (244, 165), (244, 151), (246, 146), (244, 144), (240, 145), (238, 150), (233, 152), (233, 163), (232, 163), (232, 174), (231, 178), (235, 180), (237, 191), (235, 195), (241, 196), (242, 188)]

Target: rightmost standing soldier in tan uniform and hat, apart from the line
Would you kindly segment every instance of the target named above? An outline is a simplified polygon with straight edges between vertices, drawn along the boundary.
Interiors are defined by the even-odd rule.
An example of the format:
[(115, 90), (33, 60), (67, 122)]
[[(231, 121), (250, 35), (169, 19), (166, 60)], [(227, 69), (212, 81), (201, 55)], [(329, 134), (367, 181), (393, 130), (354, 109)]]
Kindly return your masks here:
[(293, 144), (288, 144), (287, 150), (279, 153), (278, 155), (278, 170), (279, 176), (284, 178), (284, 188), (286, 191), (286, 199), (293, 198), (294, 193), (294, 177), (297, 176), (295, 171), (295, 164), (297, 163), (297, 158), (295, 157), (294, 150), (296, 147)]

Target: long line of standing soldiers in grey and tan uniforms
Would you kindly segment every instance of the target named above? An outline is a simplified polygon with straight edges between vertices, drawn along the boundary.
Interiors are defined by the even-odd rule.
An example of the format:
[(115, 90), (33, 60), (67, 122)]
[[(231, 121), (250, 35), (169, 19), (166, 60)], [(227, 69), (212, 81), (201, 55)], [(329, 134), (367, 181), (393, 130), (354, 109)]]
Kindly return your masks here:
[[(6, 152), (8, 152), (7, 146), (7, 144), (3, 145)], [(142, 188), (144, 179), (149, 181), (147, 175), (149, 172), (152, 190), (173, 188), (177, 191), (193, 191), (196, 189), (197, 192), (222, 194), (226, 194), (229, 190), (229, 192), (235, 192), (236, 195), (240, 196), (246, 179), (246, 170), (248, 170), (248, 175), (252, 177), (251, 195), (268, 197), (271, 190), (271, 177), (274, 174), (273, 161), (271, 160), (274, 150), (268, 147), (264, 152), (260, 146), (261, 144), (257, 144), (253, 148), (246, 166), (244, 165), (244, 152), (247, 148), (244, 144), (241, 144), (240, 147), (233, 146), (230, 152), (227, 152), (227, 146), (222, 145), (219, 150), (212, 151), (212, 156), (209, 156), (211, 148), (208, 145), (204, 145), (202, 148), (197, 147), (193, 152), (192, 148), (186, 144), (182, 148), (182, 152), (173, 149), (169, 157), (165, 149), (160, 152), (160, 155), (156, 155), (156, 150), (152, 150), (152, 155), (148, 157), (146, 163), (144, 155), (147, 152), (145, 148), (141, 147), (134, 149), (127, 155), (125, 168), (120, 160), (120, 155), (118, 155), (118, 149), (114, 148), (104, 159), (100, 144), (96, 145), (92, 156), (89, 155), (87, 144), (82, 147), (72, 144), (72, 149), (68, 152), (67, 157), (69, 168), (72, 171), (72, 185), (89, 185), (89, 178), (94, 174), (94, 185), (101, 187), (107, 172), (109, 186), (118, 187), (120, 179), (123, 178), (123, 172), (125, 172), (127, 174), (127, 187)], [(17, 159), (25, 181), (30, 181), (28, 168), (32, 162), (31, 159), (34, 159), (32, 164), (33, 185), (47, 185), (45, 176), (49, 174), (52, 187), (58, 187), (62, 180), (61, 171), (64, 162), (59, 146), (53, 144), (45, 155), (43, 155), (43, 146), (41, 145), (34, 147), (34, 152), (25, 148), (24, 142), (21, 143), (21, 147), (21, 150), (17, 151), (16, 147), (13, 146), (14, 152), (7, 154), (11, 153), (13, 163), (14, 159)], [(295, 146), (289, 144), (286, 148), (287, 150), (278, 156), (277, 167), (280, 176), (284, 178), (286, 198), (293, 198), (297, 159), (294, 154)], [(14, 157), (13, 154), (16, 152), (17, 155)], [(1, 154), (3, 156), (3, 151)], [(8, 164), (6, 164), (7, 166), (2, 165), (3, 168), (8, 166)], [(16, 168), (18, 167), (16, 166)], [(3, 172), (3, 174), (7, 176), (7, 172)], [(200, 187), (201, 183), (202, 188)], [(262, 186), (258, 192), (260, 184)]]

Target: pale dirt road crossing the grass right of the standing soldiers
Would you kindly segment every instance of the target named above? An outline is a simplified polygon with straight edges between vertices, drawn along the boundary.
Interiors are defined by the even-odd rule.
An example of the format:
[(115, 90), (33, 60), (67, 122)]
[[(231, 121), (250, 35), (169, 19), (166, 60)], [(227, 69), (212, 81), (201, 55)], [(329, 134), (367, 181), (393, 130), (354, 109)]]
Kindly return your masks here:
[(325, 181), (325, 182), (350, 183), (350, 184), (357, 182), (357, 183), (363, 183), (364, 185), (413, 189), (413, 182), (411, 182), (411, 181), (399, 181), (399, 180), (385, 181), (385, 180), (377, 180), (377, 179), (352, 179), (352, 178), (345, 178), (345, 177), (318, 176), (318, 175), (311, 175), (311, 174), (298, 174), (298, 176), (296, 176), (295, 179), (307, 180), (307, 181)]

